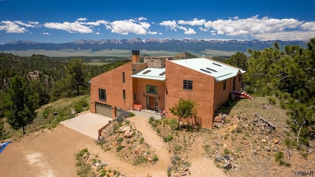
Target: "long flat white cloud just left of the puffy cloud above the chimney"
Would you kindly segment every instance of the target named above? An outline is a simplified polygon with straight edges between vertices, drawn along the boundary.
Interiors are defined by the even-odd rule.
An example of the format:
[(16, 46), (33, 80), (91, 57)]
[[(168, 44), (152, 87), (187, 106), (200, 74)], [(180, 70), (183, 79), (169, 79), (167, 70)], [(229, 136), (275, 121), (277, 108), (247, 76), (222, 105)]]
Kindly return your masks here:
[(75, 21), (74, 23), (69, 22), (63, 22), (63, 23), (45, 23), (44, 27), (50, 28), (50, 29), (63, 29), (70, 33), (80, 32), (80, 33), (92, 33), (93, 30), (90, 29), (90, 27), (86, 27), (81, 25), (78, 21)]

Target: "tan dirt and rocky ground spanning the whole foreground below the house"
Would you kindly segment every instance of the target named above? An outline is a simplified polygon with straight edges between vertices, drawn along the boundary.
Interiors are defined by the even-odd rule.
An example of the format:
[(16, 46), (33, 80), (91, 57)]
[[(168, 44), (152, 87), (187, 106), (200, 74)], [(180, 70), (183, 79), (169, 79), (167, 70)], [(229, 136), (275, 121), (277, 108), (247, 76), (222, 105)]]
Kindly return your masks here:
[(313, 172), (314, 140), (310, 147), (288, 149), (286, 141), (296, 139), (286, 119), (284, 110), (256, 98), (221, 107), (213, 129), (172, 130), (170, 119), (135, 116), (113, 121), (102, 132), (103, 143), (96, 144), (58, 125), (9, 144), (0, 154), (0, 171), (7, 177), (74, 177), (76, 155), (87, 148), (93, 155), (88, 163), (92, 170), (97, 173), (100, 164), (107, 164), (110, 176), (114, 171), (124, 177), (286, 177)]

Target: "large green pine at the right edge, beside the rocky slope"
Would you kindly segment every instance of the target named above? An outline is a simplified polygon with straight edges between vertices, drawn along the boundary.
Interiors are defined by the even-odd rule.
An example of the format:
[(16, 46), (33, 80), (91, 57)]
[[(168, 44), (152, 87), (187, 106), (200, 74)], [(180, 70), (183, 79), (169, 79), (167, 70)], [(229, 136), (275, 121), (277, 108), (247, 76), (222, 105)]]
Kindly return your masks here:
[(251, 51), (248, 76), (251, 87), (274, 95), (287, 111), (287, 123), (296, 133), (297, 145), (308, 144), (315, 129), (315, 38), (307, 48), (297, 45)]

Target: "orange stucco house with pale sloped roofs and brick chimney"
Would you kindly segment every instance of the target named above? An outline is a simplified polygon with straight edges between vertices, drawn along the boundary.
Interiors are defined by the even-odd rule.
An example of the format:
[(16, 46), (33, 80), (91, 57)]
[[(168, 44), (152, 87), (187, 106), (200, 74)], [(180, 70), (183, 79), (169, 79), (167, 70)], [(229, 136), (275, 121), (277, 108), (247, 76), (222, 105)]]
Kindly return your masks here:
[(245, 72), (206, 58), (157, 56), (140, 62), (139, 51), (132, 51), (132, 61), (91, 79), (91, 112), (115, 118), (138, 104), (142, 109), (165, 110), (166, 118), (177, 118), (169, 108), (179, 98), (191, 99), (198, 103), (201, 125), (211, 128), (215, 110), (232, 92), (240, 92)]

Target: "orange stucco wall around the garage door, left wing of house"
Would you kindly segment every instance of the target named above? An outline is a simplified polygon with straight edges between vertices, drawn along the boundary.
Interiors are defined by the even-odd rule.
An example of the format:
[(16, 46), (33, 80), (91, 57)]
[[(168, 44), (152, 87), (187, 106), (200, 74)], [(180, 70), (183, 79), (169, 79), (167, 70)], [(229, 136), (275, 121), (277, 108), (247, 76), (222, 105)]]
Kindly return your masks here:
[[(123, 83), (123, 72), (125, 72), (125, 83)], [(107, 71), (91, 79), (91, 112), (96, 113), (95, 102), (112, 105), (125, 110), (133, 105), (132, 91), (132, 62), (128, 62), (113, 70)], [(100, 101), (98, 89), (106, 90), (106, 102)], [(126, 99), (123, 99), (123, 89), (126, 90)], [(114, 108), (115, 110), (115, 108)], [(117, 115), (113, 112), (112, 118)]]

